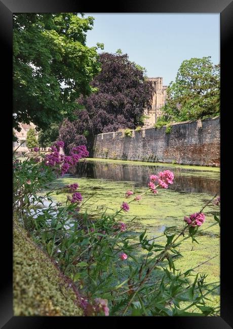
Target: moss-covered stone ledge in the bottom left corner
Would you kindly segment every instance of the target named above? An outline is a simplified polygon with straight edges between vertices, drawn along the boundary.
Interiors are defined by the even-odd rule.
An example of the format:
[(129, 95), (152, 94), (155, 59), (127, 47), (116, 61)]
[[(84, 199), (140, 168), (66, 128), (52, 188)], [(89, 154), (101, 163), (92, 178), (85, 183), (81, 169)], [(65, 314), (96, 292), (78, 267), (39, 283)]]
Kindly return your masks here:
[(17, 221), (13, 248), (15, 316), (83, 316), (68, 280)]

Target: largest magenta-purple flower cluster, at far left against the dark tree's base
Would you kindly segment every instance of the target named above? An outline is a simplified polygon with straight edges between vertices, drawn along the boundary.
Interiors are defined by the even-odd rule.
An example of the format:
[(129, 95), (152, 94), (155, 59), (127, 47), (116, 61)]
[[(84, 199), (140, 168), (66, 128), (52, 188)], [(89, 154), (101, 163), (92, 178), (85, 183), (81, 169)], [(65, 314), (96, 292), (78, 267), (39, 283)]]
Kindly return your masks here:
[(67, 173), (70, 166), (76, 165), (76, 163), (84, 157), (89, 155), (85, 145), (77, 146), (72, 148), (70, 155), (59, 154), (60, 148), (64, 147), (64, 142), (57, 141), (51, 146), (50, 154), (45, 156), (45, 164), (49, 167), (59, 166), (60, 174), (64, 175)]

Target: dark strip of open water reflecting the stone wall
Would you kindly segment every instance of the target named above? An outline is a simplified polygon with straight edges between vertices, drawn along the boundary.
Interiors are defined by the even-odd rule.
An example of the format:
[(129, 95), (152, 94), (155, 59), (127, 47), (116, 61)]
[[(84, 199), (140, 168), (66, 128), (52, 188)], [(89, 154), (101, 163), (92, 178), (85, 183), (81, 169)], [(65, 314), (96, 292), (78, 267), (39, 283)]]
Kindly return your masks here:
[[(170, 169), (174, 172), (174, 184), (170, 189), (177, 192), (220, 193), (219, 173), (197, 172), (183, 168), (163, 166), (133, 166), (106, 162), (79, 162), (70, 173), (76, 177), (107, 179), (112, 181), (132, 181), (135, 186), (145, 186), (151, 174)], [(198, 175), (197, 175), (198, 174)]]

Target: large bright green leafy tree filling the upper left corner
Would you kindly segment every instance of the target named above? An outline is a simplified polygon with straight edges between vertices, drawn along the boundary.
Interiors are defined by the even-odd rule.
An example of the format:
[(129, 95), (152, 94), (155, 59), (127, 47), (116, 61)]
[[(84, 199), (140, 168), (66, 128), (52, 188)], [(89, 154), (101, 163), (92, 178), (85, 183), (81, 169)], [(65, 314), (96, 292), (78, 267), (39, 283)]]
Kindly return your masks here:
[(13, 15), (13, 127), (33, 122), (38, 130), (74, 118), (75, 100), (90, 95), (100, 71), (96, 47), (86, 46), (93, 17), (77, 13)]

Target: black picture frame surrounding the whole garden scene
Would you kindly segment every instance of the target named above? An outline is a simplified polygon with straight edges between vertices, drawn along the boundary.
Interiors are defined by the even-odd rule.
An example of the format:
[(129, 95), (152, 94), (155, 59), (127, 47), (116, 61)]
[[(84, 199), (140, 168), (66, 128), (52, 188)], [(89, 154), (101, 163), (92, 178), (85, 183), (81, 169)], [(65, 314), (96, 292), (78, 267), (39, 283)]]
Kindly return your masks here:
[[(221, 49), (221, 315), (218, 317), (137, 317), (138, 324), (147, 325), (150, 321), (156, 326), (169, 325), (172, 328), (201, 328), (201, 329), (224, 329), (233, 324), (232, 317), (232, 294), (231, 288), (231, 232), (229, 222), (231, 219), (230, 193), (227, 186), (230, 179), (230, 161), (228, 158), (231, 138), (232, 120), (232, 52), (230, 52), (233, 37), (233, 2), (231, 0), (143, 0), (143, 1), (118, 1), (114, 8), (107, 4), (93, 3), (88, 5), (75, 0), (0, 0), (0, 35), (2, 45), (2, 71), (1, 90), (2, 101), (5, 99), (7, 108), (2, 111), (6, 127), (11, 125), (12, 112), (10, 111), (10, 99), (12, 99), (12, 15), (13, 13), (27, 12), (82, 12), (82, 13), (219, 13), (220, 14), (220, 49)], [(232, 46), (231, 46), (232, 47)], [(229, 81), (229, 82), (228, 82)], [(230, 101), (231, 100), (231, 101)], [(230, 113), (231, 112), (231, 113)], [(232, 115), (232, 114), (231, 114)], [(5, 124), (4, 124), (5, 126)], [(8, 135), (9, 134), (9, 135)], [(9, 151), (9, 157), (5, 156), (4, 173), (9, 172), (12, 177), (12, 153), (11, 153), (11, 127), (7, 130), (5, 148)], [(9, 136), (9, 137), (8, 137)], [(8, 145), (9, 142), (9, 145)], [(6, 152), (7, 152), (6, 150)], [(4, 174), (5, 176), (5, 174)], [(11, 195), (9, 200), (11, 201)], [(7, 203), (6, 203), (7, 204)], [(4, 217), (4, 230), (2, 233), (7, 239), (2, 250), (2, 291), (0, 304), (0, 324), (5, 329), (14, 328), (53, 328), (57, 325), (71, 327), (71, 325), (119, 325), (120, 323), (132, 321), (132, 317), (17, 317), (13, 316), (13, 289), (12, 289), (12, 221), (11, 202)], [(227, 211), (229, 210), (229, 211)], [(6, 232), (6, 233), (5, 233)], [(135, 318), (133, 318), (135, 321)], [(101, 323), (98, 323), (98, 322)], [(142, 322), (143, 321), (143, 322)], [(159, 321), (159, 323), (158, 323)], [(132, 325), (132, 324), (131, 324)]]

